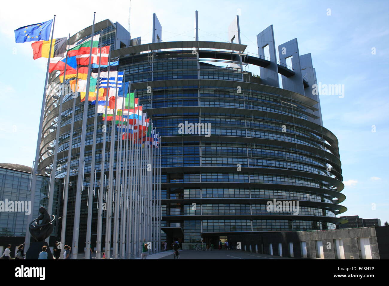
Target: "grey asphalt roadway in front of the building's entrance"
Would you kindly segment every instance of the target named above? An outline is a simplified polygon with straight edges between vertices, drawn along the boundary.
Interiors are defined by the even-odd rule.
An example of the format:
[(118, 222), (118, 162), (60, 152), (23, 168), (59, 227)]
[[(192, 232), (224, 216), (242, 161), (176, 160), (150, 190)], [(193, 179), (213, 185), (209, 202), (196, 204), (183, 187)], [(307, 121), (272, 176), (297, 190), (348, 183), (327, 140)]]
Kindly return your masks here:
[[(173, 251), (168, 250), (172, 254), (159, 259), (174, 259)], [(193, 251), (181, 250), (180, 259), (294, 259), (289, 257), (273, 256), (268, 254), (253, 253), (239, 250), (219, 250), (214, 251)]]

